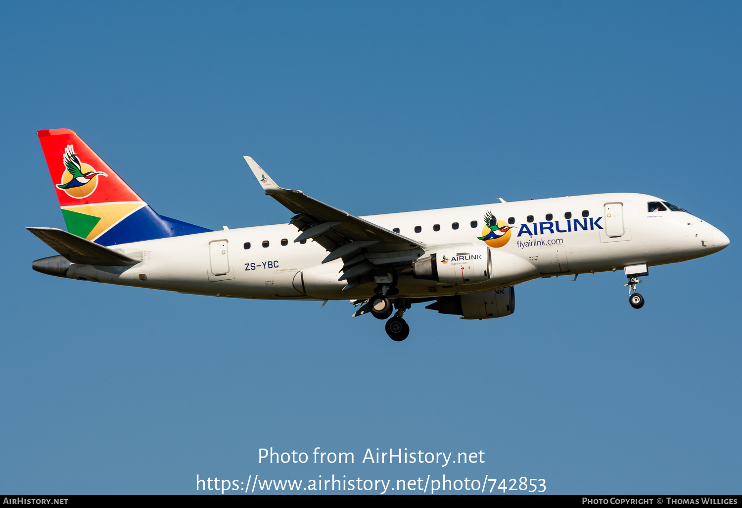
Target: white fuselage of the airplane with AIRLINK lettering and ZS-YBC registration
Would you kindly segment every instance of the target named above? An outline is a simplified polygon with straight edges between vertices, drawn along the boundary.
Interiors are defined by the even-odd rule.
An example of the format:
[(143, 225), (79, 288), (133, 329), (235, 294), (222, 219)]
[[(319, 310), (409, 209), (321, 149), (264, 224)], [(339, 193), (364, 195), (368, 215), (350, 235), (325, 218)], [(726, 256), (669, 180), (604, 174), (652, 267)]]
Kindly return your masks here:
[[(718, 252), (729, 244), (723, 232), (687, 212), (648, 212), (648, 203), (657, 201), (663, 200), (634, 193), (594, 194), (363, 218), (398, 229), (431, 252), (447, 244), (484, 246), (477, 238), (484, 236), (487, 212), (498, 221), (514, 219), (510, 219), (513, 229), (507, 244), (490, 247), (493, 265), (501, 263), (505, 272), (493, 270), (497, 275), (489, 281), (466, 285), (398, 275), (397, 297), (403, 298), (476, 293), (539, 277), (623, 270), (633, 264), (676, 263)], [(458, 229), (453, 229), (454, 223)], [(276, 224), (112, 245), (111, 249), (131, 257), (141, 256), (142, 262), (131, 267), (73, 264), (68, 277), (237, 298), (366, 299), (373, 295), (374, 283), (342, 290), (346, 283), (338, 277), (343, 261), (321, 264), (326, 250), (312, 240), (294, 243), (298, 234), (292, 225)]]

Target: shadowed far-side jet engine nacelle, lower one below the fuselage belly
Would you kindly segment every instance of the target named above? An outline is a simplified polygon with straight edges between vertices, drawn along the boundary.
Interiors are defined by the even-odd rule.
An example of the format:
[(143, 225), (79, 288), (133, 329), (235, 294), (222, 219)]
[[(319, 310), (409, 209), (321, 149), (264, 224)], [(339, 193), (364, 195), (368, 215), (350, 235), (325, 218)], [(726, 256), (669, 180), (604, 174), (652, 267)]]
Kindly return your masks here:
[(485, 293), (445, 296), (425, 307), (441, 314), (462, 316), (462, 319), (492, 319), (515, 312), (515, 288), (503, 287)]

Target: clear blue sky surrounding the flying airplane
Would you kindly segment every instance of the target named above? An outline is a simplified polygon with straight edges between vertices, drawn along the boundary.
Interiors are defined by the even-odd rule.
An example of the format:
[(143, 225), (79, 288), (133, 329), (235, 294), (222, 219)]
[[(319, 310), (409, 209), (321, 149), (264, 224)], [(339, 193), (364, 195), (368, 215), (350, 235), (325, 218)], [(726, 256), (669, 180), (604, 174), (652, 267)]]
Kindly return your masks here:
[[(0, 6), (0, 491), (194, 492), (195, 475), (545, 478), (739, 493), (742, 7), (657, 2)], [(726, 250), (516, 288), (513, 316), (234, 301), (42, 276), (64, 227), (36, 130), (72, 128), (157, 212), (278, 224), (241, 156), (355, 215), (647, 192)], [(354, 452), (266, 465), (257, 450)], [(360, 464), (367, 448), (485, 464)], [(451, 470), (453, 469), (453, 470)], [(497, 491), (496, 491), (497, 492)]]

